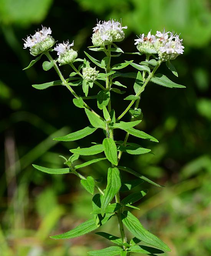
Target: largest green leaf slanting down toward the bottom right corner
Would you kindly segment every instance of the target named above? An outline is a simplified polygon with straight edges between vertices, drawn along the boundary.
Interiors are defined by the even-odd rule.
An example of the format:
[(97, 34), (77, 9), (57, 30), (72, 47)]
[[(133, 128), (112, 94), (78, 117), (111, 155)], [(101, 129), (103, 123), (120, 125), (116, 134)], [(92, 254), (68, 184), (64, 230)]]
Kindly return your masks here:
[(163, 241), (145, 229), (140, 221), (131, 212), (124, 211), (121, 214), (121, 218), (123, 224), (136, 238), (165, 251), (171, 251), (171, 249), (165, 243), (163, 243)]

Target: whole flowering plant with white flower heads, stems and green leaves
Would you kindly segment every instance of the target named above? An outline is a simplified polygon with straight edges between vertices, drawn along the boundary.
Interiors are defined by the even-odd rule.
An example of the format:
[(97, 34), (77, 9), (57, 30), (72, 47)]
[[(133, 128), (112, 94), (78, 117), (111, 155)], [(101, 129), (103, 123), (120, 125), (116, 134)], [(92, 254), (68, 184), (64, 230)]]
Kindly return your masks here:
[[(53, 37), (50, 36), (50, 28), (47, 29), (42, 27), (42, 29), (36, 32), (35, 35), (27, 37), (24, 44), (25, 48), (30, 48), (30, 53), (32, 55), (39, 55), (35, 60), (32, 60), (26, 69), (30, 68), (40, 60), (42, 55), (46, 55), (49, 61), (43, 62), (43, 69), (49, 70), (54, 67), (59, 76), (59, 80), (57, 81), (33, 85), (33, 87), (36, 89), (46, 89), (53, 85), (63, 85), (67, 87), (74, 96), (74, 105), (85, 110), (90, 122), (88, 127), (66, 136), (56, 137), (54, 140), (76, 141), (92, 134), (97, 129), (104, 132), (105, 135), (103, 141), (95, 142), (91, 147), (77, 147), (76, 149), (70, 149), (72, 155), (68, 159), (62, 156), (66, 168), (52, 169), (33, 165), (36, 169), (49, 174), (74, 174), (81, 179), (81, 185), (87, 192), (94, 195), (95, 189), (99, 191), (99, 193), (95, 194), (92, 198), (93, 210), (91, 212), (92, 217), (89, 220), (81, 223), (79, 226), (66, 233), (51, 236), (51, 238), (70, 239), (82, 236), (96, 230), (99, 226), (104, 225), (110, 218), (114, 218), (114, 216), (117, 217), (120, 237), (105, 232), (96, 233), (99, 236), (109, 239), (117, 246), (90, 251), (89, 255), (92, 256), (129, 256), (130, 253), (133, 252), (154, 255), (157, 253), (164, 253), (164, 251), (171, 251), (162, 240), (145, 229), (140, 221), (130, 212), (130, 209), (138, 209), (133, 206), (133, 204), (142, 199), (148, 191), (142, 191), (140, 189), (139, 192), (132, 192), (120, 200), (120, 194), (122, 197), (124, 192), (131, 191), (134, 187), (140, 186), (142, 182), (149, 182), (155, 186), (160, 185), (129, 167), (121, 166), (120, 160), (122, 154), (125, 153), (137, 155), (150, 152), (150, 149), (143, 148), (137, 143), (129, 142), (130, 135), (140, 139), (148, 139), (152, 142), (158, 142), (153, 136), (134, 128), (142, 119), (142, 111), (139, 108), (140, 95), (149, 82), (168, 88), (185, 87), (172, 82), (165, 75), (155, 74), (160, 65), (163, 62), (166, 62), (167, 67), (173, 74), (178, 76), (175, 67), (171, 64), (170, 60), (183, 54), (184, 47), (182, 46), (182, 40), (176, 34), (165, 32), (165, 30), (163, 30), (163, 32), (157, 31), (156, 35), (151, 35), (151, 32), (148, 32), (147, 36), (142, 34), (138, 39), (135, 39), (135, 45), (137, 45), (138, 52), (131, 53), (137, 55), (145, 54), (145, 61), (135, 64), (133, 60), (130, 60), (125, 61), (124, 63), (111, 65), (111, 60), (114, 57), (116, 58), (119, 55), (124, 54), (124, 51), (115, 44), (115, 42), (124, 39), (125, 35), (123, 29), (127, 29), (127, 27), (122, 27), (122, 24), (115, 20), (99, 22), (96, 27), (94, 27), (94, 33), (92, 35), (93, 46), (89, 47), (89, 50), (96, 52), (102, 51), (104, 52), (105, 57), (100, 61), (86, 52), (85, 54), (89, 61), (97, 67), (93, 67), (93, 64), (91, 65), (87, 59), (77, 59), (77, 52), (71, 48), (74, 44), (69, 44), (69, 41), (63, 42), (63, 44), (60, 43), (53, 49), (52, 47), (55, 41)], [(51, 51), (57, 52), (58, 59), (53, 59), (51, 57)], [(77, 62), (82, 62), (82, 64), (76, 68), (75, 63)], [(68, 79), (63, 77), (57, 63), (59, 63), (59, 65), (68, 64), (73, 69), (73, 72), (71, 72)], [(120, 70), (125, 69), (125, 67), (129, 65), (138, 70), (137, 74), (134, 75), (134, 73), (120, 72)], [(127, 87), (116, 80), (118, 77), (129, 77), (134, 79), (134, 95), (125, 97), (124, 100), (128, 100), (129, 104), (119, 115), (114, 109), (115, 102), (111, 105), (110, 95), (112, 93), (124, 93), (116, 88), (116, 86)], [(82, 94), (85, 96), (77, 95), (72, 88), (73, 86), (81, 87)], [(97, 95), (89, 94), (91, 91), (90, 88), (93, 86), (99, 87), (99, 93)], [(97, 107), (102, 111), (101, 114), (96, 110), (91, 109), (85, 102), (86, 99), (97, 100)], [(127, 113), (130, 114), (130, 121), (122, 121), (122, 117)], [(117, 129), (126, 132), (125, 138), (122, 141), (115, 141), (114, 139), (115, 131)], [(104, 152), (105, 157), (95, 158), (82, 164), (76, 164), (76, 161), (80, 156), (92, 156), (101, 152)], [(78, 172), (78, 169), (99, 161), (109, 161), (111, 165), (107, 171), (107, 186), (105, 189), (100, 187), (100, 180), (96, 179), (96, 177), (84, 177)], [(121, 179), (120, 171), (129, 172), (138, 179), (124, 181)], [(115, 202), (112, 202), (114, 197)], [(125, 235), (125, 228), (134, 236), (130, 241), (127, 240), (127, 236)], [(140, 242), (150, 246), (142, 245)]]

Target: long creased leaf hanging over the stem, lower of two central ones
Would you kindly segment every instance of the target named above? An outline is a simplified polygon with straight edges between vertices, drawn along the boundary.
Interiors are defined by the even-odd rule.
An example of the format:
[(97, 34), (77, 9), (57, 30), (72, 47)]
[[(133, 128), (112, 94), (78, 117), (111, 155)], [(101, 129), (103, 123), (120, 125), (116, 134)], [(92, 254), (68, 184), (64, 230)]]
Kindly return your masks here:
[(104, 214), (104, 212), (106, 211), (106, 207), (109, 205), (110, 201), (114, 198), (115, 194), (117, 194), (120, 187), (121, 187), (121, 180), (120, 180), (119, 169), (117, 169), (117, 167), (109, 168), (108, 176), (107, 176), (107, 186), (101, 201), (102, 214)]

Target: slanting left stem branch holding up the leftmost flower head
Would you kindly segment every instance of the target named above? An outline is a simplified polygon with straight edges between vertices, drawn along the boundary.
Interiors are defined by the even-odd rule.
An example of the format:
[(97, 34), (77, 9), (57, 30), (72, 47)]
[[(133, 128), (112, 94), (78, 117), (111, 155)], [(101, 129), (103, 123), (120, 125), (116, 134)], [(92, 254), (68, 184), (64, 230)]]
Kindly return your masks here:
[[(63, 75), (61, 74), (61, 71), (58, 67), (58, 65), (56, 64), (56, 61), (51, 57), (51, 55), (49, 54), (49, 52), (45, 52), (45, 55), (48, 57), (48, 59), (53, 62), (53, 66), (54, 69), (56, 70), (56, 73), (58, 74), (59, 78), (61, 79), (63, 85), (65, 85), (68, 90), (71, 92), (71, 94), (74, 95), (74, 97), (76, 97), (76, 99), (79, 98), (79, 96), (76, 94), (76, 92), (74, 92), (74, 90), (72, 89), (72, 87), (67, 83), (67, 81), (64, 79)], [(104, 120), (100, 115), (98, 115), (94, 110), (91, 109), (91, 107), (89, 107), (89, 105), (87, 105), (84, 102), (84, 107), (86, 107), (87, 109), (89, 109), (90, 111), (92, 111), (97, 117), (99, 117), (101, 120)]]

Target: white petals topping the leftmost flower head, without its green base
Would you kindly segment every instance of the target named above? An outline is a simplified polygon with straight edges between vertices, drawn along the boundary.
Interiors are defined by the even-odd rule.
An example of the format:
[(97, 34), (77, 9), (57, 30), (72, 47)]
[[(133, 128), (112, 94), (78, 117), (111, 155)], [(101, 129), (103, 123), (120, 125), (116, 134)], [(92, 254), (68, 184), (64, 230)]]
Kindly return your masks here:
[(35, 32), (34, 35), (31, 35), (31, 37), (27, 37), (26, 39), (23, 39), (25, 44), (24, 44), (24, 49), (27, 47), (33, 47), (35, 44), (42, 42), (45, 40), (48, 35), (51, 34), (51, 28), (46, 28), (42, 26), (42, 29), (38, 32)]

